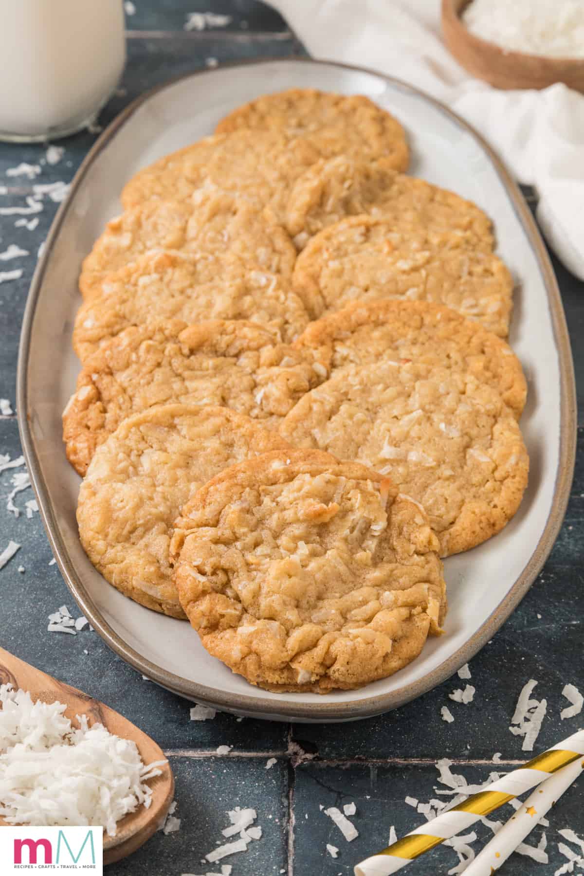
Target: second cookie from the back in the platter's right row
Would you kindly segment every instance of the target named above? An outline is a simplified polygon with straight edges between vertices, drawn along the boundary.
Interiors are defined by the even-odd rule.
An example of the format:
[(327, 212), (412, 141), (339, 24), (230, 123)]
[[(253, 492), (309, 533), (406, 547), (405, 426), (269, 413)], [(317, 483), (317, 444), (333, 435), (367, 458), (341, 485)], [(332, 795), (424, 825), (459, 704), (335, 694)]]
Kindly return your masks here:
[(294, 290), (320, 312), (350, 300), (406, 298), (452, 307), (506, 337), (513, 281), (500, 258), (468, 231), (354, 216), (311, 238), (296, 260)]

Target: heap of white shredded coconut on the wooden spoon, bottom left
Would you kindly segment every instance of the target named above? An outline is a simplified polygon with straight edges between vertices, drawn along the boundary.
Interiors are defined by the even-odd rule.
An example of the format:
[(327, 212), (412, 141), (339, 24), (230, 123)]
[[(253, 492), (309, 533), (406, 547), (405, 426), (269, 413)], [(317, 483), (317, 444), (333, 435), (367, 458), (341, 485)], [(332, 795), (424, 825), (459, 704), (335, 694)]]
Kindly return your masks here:
[(9, 824), (104, 825), (151, 805), (146, 781), (166, 760), (144, 766), (136, 743), (77, 716), (64, 703), (32, 702), (25, 690), (0, 685), (0, 816)]

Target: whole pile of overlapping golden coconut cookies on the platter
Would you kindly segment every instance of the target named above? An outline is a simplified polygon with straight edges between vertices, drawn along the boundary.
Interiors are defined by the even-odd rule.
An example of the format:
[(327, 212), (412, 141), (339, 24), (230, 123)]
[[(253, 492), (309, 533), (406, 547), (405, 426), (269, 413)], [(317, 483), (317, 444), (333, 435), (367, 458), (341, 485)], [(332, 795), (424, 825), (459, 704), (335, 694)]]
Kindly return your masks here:
[(440, 558), (527, 484), (510, 273), (488, 216), (407, 165), (366, 97), (266, 95), (137, 173), (82, 266), (83, 547), (267, 689), (412, 661)]

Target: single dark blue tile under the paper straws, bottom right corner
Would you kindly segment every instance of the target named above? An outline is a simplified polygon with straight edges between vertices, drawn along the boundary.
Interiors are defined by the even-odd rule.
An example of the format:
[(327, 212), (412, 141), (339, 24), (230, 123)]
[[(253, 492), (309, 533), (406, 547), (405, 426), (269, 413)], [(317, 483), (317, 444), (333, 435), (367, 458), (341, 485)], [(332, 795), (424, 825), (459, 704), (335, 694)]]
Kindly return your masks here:
[[(509, 768), (498, 767), (500, 773)], [(497, 767), (493, 765), (479, 767), (454, 764), (452, 767), (452, 772), (462, 775), (469, 784), (488, 781), (489, 774), (496, 770)], [(295, 872), (302, 876), (312, 876), (313, 873), (319, 876), (352, 874), (353, 867), (362, 858), (381, 851), (389, 844), (391, 827), (400, 837), (426, 823), (426, 817), (419, 815), (416, 808), (405, 802), (406, 797), (420, 803), (433, 799), (453, 799), (450, 795), (440, 794), (440, 791), (447, 790), (447, 786), (441, 784), (438, 778), (436, 767), (427, 763), (303, 764), (296, 770), (293, 788)], [(359, 831), (359, 836), (348, 842), (324, 810), (336, 807), (342, 811), (343, 805), (351, 802), (355, 803), (356, 812), (355, 816), (349, 816), (349, 820)], [(560, 805), (561, 812), (558, 807), (550, 813), (550, 827), (536, 828), (526, 840), (530, 845), (537, 845), (545, 830), (549, 864), (535, 864), (530, 858), (515, 854), (503, 867), (502, 874), (523, 876), (541, 873), (542, 876), (551, 876), (560, 865), (566, 864), (566, 858), (559, 854), (557, 848), (558, 840), (562, 841), (557, 830), (567, 825), (575, 830), (580, 826), (581, 830), (584, 824), (577, 787), (566, 792)], [(504, 822), (512, 815), (513, 809), (507, 805), (498, 814), (493, 813), (490, 820)], [(477, 853), (493, 837), (493, 833), (480, 822), (468, 832), (470, 830), (477, 834), (477, 841), (472, 846)], [(338, 849), (337, 858), (331, 857), (327, 844)], [(577, 846), (574, 851), (579, 851)], [(440, 846), (410, 865), (408, 873), (412, 873), (412, 876), (439, 876), (458, 863), (454, 849)]]

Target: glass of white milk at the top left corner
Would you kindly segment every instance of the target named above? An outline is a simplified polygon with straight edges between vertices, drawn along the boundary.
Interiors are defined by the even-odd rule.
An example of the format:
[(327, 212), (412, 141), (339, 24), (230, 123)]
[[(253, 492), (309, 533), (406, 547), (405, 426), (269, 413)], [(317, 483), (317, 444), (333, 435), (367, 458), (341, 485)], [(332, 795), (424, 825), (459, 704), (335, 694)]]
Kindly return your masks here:
[(0, 0), (0, 139), (91, 124), (125, 59), (122, 0)]

